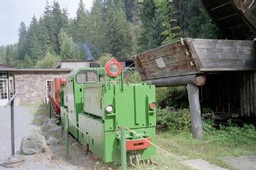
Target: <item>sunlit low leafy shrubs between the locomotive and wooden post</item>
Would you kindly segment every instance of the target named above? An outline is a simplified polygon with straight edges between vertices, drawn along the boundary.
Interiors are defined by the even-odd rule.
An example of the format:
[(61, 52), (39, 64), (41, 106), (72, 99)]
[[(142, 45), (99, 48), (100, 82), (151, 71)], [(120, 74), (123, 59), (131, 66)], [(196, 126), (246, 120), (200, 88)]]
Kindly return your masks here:
[(174, 110), (173, 108), (158, 108), (157, 128), (161, 131), (182, 131), (190, 128), (190, 110)]

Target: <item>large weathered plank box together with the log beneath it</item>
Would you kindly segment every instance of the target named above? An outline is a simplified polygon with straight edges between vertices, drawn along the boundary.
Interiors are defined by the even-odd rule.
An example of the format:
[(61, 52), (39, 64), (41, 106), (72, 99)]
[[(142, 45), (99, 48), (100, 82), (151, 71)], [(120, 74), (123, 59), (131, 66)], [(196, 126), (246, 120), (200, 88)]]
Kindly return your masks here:
[(179, 86), (206, 81), (215, 71), (254, 70), (255, 41), (182, 39), (134, 57), (142, 80), (156, 86)]

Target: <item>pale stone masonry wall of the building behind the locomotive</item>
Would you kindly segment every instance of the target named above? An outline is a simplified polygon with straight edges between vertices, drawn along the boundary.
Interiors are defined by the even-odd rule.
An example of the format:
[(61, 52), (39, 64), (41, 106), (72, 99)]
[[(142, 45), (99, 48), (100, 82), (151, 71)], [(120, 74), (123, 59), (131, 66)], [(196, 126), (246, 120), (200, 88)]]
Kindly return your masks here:
[(47, 97), (47, 81), (64, 77), (69, 73), (29, 71), (15, 72), (15, 90), (18, 92), (17, 105), (42, 102)]

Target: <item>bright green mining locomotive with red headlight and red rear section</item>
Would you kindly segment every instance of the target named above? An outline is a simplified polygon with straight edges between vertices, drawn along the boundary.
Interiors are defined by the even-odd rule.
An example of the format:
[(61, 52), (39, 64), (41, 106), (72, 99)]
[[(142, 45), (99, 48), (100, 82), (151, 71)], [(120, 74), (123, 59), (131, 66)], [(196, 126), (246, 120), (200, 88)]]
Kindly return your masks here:
[(106, 163), (121, 162), (121, 126), (131, 129), (125, 133), (128, 162), (155, 155), (155, 86), (125, 82), (124, 74), (121, 63), (112, 59), (105, 68), (77, 68), (50, 84), (53, 110), (69, 115), (69, 134)]

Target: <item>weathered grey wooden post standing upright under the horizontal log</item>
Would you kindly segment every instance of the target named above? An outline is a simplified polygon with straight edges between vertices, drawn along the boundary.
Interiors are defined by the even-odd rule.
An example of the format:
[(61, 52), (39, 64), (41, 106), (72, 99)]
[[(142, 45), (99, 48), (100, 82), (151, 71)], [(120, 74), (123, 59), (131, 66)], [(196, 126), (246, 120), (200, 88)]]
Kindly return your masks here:
[(195, 139), (201, 139), (202, 124), (201, 124), (201, 108), (199, 102), (198, 86), (187, 84), (188, 100), (190, 102), (190, 118), (192, 123), (192, 134)]

